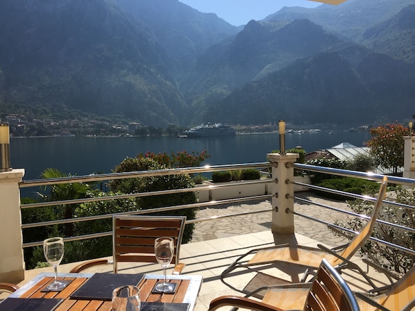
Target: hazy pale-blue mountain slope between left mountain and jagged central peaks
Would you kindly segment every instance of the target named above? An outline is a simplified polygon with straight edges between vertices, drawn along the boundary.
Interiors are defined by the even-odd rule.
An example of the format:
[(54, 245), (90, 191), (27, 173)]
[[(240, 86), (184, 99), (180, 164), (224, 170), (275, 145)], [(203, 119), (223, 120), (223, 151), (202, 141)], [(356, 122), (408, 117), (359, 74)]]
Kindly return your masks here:
[(170, 74), (181, 81), (212, 44), (239, 28), (213, 13), (198, 12), (178, 0), (117, 0), (126, 14), (144, 22), (172, 60)]

